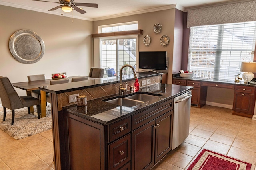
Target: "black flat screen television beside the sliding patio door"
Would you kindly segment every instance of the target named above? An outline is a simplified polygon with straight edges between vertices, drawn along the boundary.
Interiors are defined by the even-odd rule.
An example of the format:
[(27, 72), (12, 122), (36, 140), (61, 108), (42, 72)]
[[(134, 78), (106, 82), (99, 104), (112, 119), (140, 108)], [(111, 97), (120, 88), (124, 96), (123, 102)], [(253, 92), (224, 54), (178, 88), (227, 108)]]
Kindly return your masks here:
[(167, 70), (167, 51), (140, 51), (139, 68), (149, 70)]

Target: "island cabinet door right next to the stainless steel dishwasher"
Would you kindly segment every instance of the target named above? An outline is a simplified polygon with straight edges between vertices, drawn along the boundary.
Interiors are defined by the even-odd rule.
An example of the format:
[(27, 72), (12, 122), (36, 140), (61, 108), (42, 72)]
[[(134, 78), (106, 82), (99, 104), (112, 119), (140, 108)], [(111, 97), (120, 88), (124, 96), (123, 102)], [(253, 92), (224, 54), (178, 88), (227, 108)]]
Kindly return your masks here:
[(155, 164), (172, 149), (172, 114), (173, 110), (156, 119)]

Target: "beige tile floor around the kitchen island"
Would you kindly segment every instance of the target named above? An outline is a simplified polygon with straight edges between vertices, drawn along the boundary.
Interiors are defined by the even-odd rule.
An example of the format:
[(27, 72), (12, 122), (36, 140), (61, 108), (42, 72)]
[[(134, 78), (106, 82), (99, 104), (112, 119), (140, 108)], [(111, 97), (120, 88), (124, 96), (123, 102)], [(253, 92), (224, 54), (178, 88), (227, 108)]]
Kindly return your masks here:
[[(249, 162), (254, 170), (255, 129), (256, 121), (232, 115), (231, 109), (191, 107), (188, 138), (152, 170), (186, 170), (203, 148)], [(52, 130), (20, 140), (0, 130), (0, 146), (0, 170), (54, 169)]]

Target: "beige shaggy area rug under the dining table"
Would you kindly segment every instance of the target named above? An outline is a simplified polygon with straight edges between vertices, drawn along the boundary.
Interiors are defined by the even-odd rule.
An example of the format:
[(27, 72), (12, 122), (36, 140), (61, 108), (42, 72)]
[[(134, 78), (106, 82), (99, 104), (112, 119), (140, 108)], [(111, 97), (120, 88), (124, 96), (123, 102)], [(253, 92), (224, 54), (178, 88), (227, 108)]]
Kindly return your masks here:
[[(34, 106), (34, 111), (36, 107)], [(46, 117), (38, 119), (34, 114), (28, 114), (28, 108), (16, 109), (14, 124), (11, 125), (12, 111), (6, 109), (6, 119), (3, 121), (4, 111), (0, 112), (0, 129), (8, 133), (14, 139), (23, 139), (37, 133), (52, 129), (52, 117), (50, 104), (46, 106)]]

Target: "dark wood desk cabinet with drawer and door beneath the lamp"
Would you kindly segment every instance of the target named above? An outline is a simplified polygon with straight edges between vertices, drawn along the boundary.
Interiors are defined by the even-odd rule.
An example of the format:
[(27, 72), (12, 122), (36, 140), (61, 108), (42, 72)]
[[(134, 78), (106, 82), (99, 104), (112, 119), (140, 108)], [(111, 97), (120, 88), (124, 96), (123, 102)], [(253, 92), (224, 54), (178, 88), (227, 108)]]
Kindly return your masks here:
[(235, 85), (233, 114), (252, 118), (255, 104), (255, 87)]

